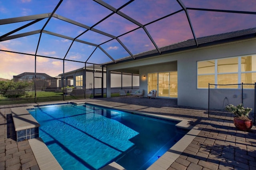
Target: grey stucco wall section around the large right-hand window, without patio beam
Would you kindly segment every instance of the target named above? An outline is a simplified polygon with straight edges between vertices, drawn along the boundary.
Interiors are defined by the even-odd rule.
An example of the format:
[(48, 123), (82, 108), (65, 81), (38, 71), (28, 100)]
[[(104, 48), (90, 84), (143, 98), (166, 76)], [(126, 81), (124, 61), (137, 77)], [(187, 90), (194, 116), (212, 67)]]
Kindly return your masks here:
[[(256, 53), (256, 39), (222, 44), (178, 54), (178, 105), (208, 108), (208, 89), (196, 88), (197, 61), (254, 53)], [(230, 96), (232, 95), (234, 95), (234, 91), (231, 90)], [(223, 100), (224, 97), (219, 101), (220, 105)]]

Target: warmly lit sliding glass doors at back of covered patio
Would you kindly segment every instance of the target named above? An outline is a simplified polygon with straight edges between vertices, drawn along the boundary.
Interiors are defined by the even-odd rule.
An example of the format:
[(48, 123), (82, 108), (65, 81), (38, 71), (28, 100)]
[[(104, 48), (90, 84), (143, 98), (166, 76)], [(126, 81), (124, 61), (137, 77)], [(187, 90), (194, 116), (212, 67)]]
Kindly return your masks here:
[(148, 91), (156, 89), (159, 97), (178, 97), (178, 73), (161, 72), (148, 74)]

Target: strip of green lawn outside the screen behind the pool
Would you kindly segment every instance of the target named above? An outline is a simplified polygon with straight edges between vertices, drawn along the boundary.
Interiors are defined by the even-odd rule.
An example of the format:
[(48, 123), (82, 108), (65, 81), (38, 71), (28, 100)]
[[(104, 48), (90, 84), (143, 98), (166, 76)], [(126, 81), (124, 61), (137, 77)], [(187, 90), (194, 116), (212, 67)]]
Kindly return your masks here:
[[(32, 91), (28, 92), (32, 97), (30, 98), (5, 98), (0, 97), (0, 105), (14, 105), (21, 103), (35, 103), (35, 93)], [(111, 97), (117, 97), (119, 93), (111, 93)], [(92, 98), (92, 94), (87, 94), (86, 99)], [(106, 97), (106, 94), (103, 95)], [(84, 95), (64, 95), (64, 100), (72, 99), (84, 99)], [(36, 91), (36, 103), (47, 102), (47, 101), (63, 101), (63, 93), (60, 91)]]

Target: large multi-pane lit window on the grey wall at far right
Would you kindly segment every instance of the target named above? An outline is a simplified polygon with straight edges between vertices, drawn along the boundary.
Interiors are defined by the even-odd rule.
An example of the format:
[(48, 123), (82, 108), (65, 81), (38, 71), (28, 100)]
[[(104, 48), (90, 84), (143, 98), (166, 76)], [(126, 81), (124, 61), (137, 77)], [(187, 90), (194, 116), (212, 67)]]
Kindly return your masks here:
[[(208, 88), (210, 84), (253, 84), (256, 82), (256, 55), (230, 57), (197, 62), (197, 87)], [(253, 88), (244, 85), (244, 88)], [(211, 85), (210, 88), (220, 88)], [(221, 88), (225, 88), (222, 86)], [(238, 85), (227, 88), (238, 88)]]

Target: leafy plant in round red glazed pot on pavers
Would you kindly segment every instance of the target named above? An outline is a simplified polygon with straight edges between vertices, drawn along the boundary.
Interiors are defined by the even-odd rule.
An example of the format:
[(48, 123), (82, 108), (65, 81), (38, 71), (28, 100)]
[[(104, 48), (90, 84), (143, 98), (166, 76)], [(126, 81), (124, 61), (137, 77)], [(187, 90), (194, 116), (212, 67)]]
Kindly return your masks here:
[(247, 131), (252, 128), (252, 119), (248, 117), (252, 108), (244, 108), (243, 104), (240, 103), (237, 106), (228, 105), (225, 110), (234, 113), (234, 125), (237, 129)]

